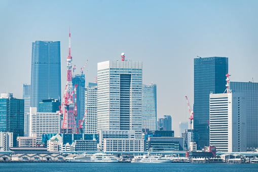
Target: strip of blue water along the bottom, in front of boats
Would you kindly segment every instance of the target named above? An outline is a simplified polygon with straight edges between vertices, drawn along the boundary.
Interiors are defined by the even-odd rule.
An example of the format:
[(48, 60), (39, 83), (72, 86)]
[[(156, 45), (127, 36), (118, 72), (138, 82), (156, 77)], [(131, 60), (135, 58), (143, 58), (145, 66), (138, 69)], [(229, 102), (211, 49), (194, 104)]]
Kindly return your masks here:
[(258, 171), (258, 164), (196, 163), (0, 163), (0, 171)]

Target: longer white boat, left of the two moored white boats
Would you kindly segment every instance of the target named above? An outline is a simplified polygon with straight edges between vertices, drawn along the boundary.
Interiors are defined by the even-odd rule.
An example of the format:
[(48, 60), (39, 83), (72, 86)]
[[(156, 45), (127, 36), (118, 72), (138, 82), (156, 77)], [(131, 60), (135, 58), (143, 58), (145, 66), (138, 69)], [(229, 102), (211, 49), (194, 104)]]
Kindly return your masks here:
[(71, 159), (70, 162), (118, 162), (119, 158), (112, 154), (96, 153), (81, 154)]

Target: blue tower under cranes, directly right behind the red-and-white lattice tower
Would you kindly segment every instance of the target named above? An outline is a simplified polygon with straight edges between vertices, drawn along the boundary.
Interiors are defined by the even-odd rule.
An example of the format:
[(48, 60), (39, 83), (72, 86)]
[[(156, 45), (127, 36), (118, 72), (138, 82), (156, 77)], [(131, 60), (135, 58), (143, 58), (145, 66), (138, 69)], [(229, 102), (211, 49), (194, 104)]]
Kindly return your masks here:
[[(76, 104), (77, 104), (77, 121), (76, 125), (79, 126), (79, 120), (83, 119), (84, 116), (84, 99), (85, 99), (85, 75), (77, 74), (72, 76), (72, 88), (75, 88), (75, 85), (78, 85), (76, 88)], [(75, 97), (73, 97), (75, 98)]]

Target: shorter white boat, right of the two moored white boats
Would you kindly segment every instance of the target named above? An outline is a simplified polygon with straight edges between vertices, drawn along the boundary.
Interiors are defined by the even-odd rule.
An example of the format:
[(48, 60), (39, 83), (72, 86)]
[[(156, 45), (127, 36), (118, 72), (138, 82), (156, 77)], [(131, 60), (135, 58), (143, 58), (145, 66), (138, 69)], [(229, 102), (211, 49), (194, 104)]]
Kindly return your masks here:
[(150, 155), (141, 155), (135, 156), (131, 163), (140, 162), (140, 163), (169, 163), (172, 160), (169, 157), (161, 157), (161, 156), (150, 156)]

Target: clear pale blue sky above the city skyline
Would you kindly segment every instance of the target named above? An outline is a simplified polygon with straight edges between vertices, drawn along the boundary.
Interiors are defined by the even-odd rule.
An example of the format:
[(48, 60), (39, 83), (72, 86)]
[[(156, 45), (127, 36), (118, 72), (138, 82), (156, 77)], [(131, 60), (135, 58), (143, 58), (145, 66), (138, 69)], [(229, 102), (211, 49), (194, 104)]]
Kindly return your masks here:
[[(231, 81), (258, 82), (258, 1), (0, 1), (0, 92), (22, 98), (30, 84), (31, 44), (61, 42), (62, 92), (68, 33), (71, 56), (86, 83), (97, 63), (143, 62), (143, 83), (157, 84), (157, 116), (189, 121), (194, 104), (194, 58), (229, 57)], [(205, 84), (205, 83), (203, 83)], [(226, 89), (226, 86), (225, 86)]]

